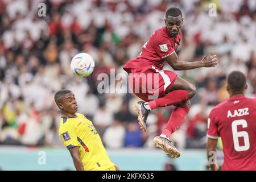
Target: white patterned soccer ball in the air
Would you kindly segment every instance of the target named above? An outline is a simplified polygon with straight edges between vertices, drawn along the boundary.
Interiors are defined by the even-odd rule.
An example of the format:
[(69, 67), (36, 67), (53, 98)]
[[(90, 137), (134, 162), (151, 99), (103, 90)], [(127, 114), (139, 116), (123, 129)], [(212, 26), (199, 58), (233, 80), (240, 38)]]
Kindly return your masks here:
[(94, 60), (89, 53), (79, 53), (71, 60), (71, 70), (77, 77), (89, 76), (94, 70)]

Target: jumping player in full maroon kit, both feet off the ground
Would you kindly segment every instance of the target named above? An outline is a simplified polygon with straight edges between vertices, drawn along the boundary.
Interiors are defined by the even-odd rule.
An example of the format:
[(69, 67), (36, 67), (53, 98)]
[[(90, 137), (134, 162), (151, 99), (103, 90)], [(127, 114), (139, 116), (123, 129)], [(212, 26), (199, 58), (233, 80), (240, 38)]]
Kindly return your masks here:
[(155, 137), (153, 142), (166, 154), (177, 158), (180, 154), (171, 144), (170, 137), (187, 115), (189, 99), (196, 94), (196, 88), (188, 81), (177, 77), (174, 72), (162, 70), (163, 65), (167, 62), (174, 70), (214, 67), (217, 58), (216, 55), (207, 55), (200, 61), (180, 61), (175, 51), (181, 39), (181, 11), (171, 7), (166, 12), (164, 22), (166, 26), (156, 30), (144, 44), (140, 55), (129, 60), (123, 69), (129, 73), (129, 85), (133, 92), (146, 101), (137, 102), (135, 105), (142, 131), (146, 131), (146, 120), (152, 109), (176, 106), (162, 134)]

